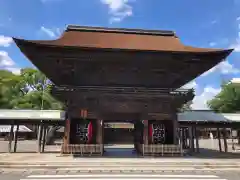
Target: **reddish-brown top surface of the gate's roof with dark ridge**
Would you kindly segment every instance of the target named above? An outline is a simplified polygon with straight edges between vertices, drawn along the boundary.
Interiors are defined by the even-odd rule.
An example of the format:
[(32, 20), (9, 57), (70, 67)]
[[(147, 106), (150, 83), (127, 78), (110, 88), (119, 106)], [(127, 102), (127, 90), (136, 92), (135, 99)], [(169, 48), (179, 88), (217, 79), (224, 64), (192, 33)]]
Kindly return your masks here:
[(101, 49), (174, 52), (225, 52), (232, 49), (208, 49), (183, 45), (173, 31), (123, 29), (69, 25), (57, 40), (21, 40), (13, 38), (18, 46), (34, 43), (47, 46), (67, 46)]

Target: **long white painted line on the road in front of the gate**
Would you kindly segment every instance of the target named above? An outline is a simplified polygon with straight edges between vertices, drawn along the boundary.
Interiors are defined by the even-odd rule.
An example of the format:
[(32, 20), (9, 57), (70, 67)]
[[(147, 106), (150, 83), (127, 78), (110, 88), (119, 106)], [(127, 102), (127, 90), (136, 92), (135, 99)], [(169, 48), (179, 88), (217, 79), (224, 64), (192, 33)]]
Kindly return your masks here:
[(29, 175), (28, 178), (218, 178), (216, 175), (184, 175), (184, 174), (64, 174), (64, 175)]

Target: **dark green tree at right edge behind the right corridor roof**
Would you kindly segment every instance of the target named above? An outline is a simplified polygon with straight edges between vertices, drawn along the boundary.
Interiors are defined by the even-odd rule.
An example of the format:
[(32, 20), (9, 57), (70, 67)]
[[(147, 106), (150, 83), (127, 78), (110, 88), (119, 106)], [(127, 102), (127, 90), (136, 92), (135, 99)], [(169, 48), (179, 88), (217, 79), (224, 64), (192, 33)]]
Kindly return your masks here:
[(221, 92), (208, 101), (208, 106), (216, 112), (240, 112), (240, 84), (224, 83)]

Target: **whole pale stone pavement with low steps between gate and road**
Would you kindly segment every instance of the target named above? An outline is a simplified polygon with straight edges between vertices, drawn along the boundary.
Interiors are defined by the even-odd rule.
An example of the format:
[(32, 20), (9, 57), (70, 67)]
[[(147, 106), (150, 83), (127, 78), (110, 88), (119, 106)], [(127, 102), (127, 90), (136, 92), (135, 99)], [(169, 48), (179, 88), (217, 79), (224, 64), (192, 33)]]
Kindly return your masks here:
[(56, 154), (0, 154), (2, 172), (165, 172), (239, 171), (239, 159), (74, 158)]

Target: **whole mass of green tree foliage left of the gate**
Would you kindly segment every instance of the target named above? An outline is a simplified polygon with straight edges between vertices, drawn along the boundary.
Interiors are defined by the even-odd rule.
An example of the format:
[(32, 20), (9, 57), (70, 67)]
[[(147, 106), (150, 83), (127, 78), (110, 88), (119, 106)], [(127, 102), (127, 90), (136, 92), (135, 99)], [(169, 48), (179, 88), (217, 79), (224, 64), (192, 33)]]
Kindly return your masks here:
[(51, 83), (40, 71), (32, 68), (15, 75), (0, 70), (1, 109), (62, 109), (50, 94)]

